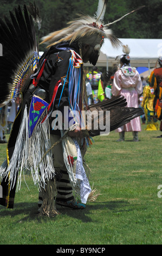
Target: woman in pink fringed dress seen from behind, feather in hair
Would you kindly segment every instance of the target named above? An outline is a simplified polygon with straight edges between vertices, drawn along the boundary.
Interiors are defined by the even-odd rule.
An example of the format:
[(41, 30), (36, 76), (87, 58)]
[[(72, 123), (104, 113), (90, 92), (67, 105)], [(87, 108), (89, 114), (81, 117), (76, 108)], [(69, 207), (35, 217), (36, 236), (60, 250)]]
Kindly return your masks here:
[[(128, 48), (129, 50), (129, 48)], [(126, 53), (126, 51), (125, 51)], [(138, 107), (138, 99), (142, 93), (142, 83), (138, 71), (130, 65), (129, 52), (120, 56), (121, 68), (115, 72), (112, 95), (124, 96), (127, 100), (127, 107)], [(118, 141), (125, 140), (125, 132), (133, 132), (133, 141), (138, 141), (138, 132), (141, 131), (140, 117), (132, 119), (128, 124), (119, 127)]]

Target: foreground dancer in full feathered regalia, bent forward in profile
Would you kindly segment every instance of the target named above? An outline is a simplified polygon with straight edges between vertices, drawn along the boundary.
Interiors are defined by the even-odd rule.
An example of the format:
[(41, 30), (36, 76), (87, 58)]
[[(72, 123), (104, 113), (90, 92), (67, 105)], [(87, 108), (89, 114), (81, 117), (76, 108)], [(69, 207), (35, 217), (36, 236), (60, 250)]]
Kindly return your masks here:
[[(39, 62), (34, 23), (27, 7), (24, 5), (24, 16), (20, 7), (15, 16), (10, 13), (12, 22), (5, 18), (7, 25), (0, 20), (5, 52), (0, 63), (1, 105), (22, 93), (22, 104), (7, 146), (7, 159), (0, 169), (1, 204), (7, 208), (14, 207), (16, 185), (20, 190), (22, 175), (28, 173), (42, 193), (42, 215), (58, 214), (56, 202), (82, 209), (90, 196), (93, 199), (84, 155), (91, 143), (90, 137), (99, 135), (101, 130), (90, 129), (87, 123), (81, 130), (85, 120), (83, 62), (96, 64), (104, 38), (109, 38), (113, 46), (120, 45), (107, 28), (109, 24), (103, 25), (106, 4), (107, 1), (99, 1), (96, 17), (80, 17), (69, 22), (67, 28), (43, 38), (47, 51)], [(10, 44), (13, 35), (15, 43)], [(114, 97), (103, 106), (100, 103), (90, 106), (89, 115), (93, 109), (104, 113), (110, 110), (110, 130), (114, 130), (141, 115), (140, 109), (125, 106), (123, 97)], [(64, 115), (65, 107), (68, 113)], [(60, 113), (63, 120), (59, 118)], [(93, 124), (97, 122), (94, 118)], [(81, 199), (81, 204), (76, 202), (73, 193)]]

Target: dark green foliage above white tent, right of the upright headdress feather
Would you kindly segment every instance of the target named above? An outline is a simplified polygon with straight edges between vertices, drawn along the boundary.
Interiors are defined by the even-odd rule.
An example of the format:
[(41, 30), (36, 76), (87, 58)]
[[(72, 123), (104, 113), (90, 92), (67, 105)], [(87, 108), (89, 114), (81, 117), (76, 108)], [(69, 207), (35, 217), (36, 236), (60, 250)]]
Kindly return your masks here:
[(125, 17), (111, 28), (119, 38), (161, 38), (161, 4), (161, 0), (111, 1), (105, 18), (112, 22), (145, 5), (145, 8)]

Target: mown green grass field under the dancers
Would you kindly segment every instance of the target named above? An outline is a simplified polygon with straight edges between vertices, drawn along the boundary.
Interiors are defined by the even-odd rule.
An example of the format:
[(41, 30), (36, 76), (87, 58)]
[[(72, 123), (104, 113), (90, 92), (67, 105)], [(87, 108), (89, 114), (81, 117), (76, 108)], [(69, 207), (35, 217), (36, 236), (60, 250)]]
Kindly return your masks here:
[[(88, 149), (90, 185), (101, 195), (85, 210), (58, 207), (54, 218), (37, 216), (38, 191), (30, 177), (16, 193), (14, 209), (0, 206), (1, 245), (161, 245), (162, 184), (160, 131), (145, 131), (139, 142), (126, 133), (98, 136)], [(0, 145), (1, 163), (6, 144)], [(162, 192), (161, 192), (162, 195)]]

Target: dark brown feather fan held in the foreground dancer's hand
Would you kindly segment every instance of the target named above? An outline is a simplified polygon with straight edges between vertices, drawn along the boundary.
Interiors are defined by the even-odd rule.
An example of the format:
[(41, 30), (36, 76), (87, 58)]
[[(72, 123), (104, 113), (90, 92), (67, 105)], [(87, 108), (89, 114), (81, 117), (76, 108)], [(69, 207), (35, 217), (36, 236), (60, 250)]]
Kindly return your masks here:
[[(104, 131), (100, 129), (99, 124), (103, 124), (103, 126), (106, 127), (106, 111), (110, 111), (109, 131), (113, 131), (122, 125), (129, 123), (132, 119), (144, 114), (141, 108), (126, 106), (126, 99), (120, 95), (89, 106), (87, 116), (90, 118), (88, 119), (90, 120), (90, 128), (88, 124), (89, 121), (87, 121), (86, 130), (82, 130), (83, 134), (94, 137), (100, 135), (101, 132), (104, 133)], [(102, 116), (100, 117), (101, 111)]]

